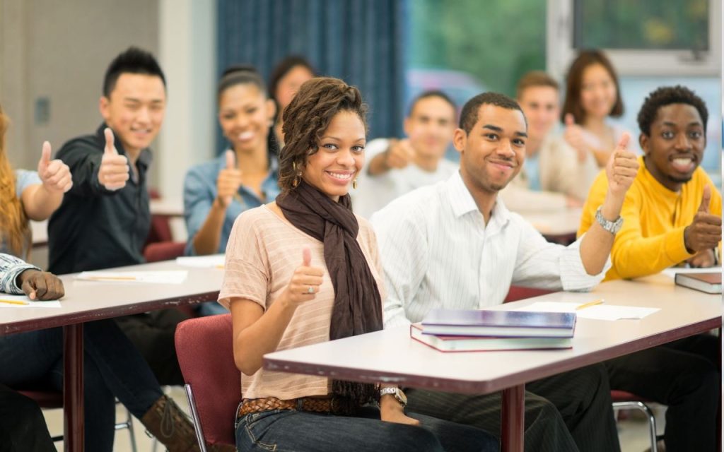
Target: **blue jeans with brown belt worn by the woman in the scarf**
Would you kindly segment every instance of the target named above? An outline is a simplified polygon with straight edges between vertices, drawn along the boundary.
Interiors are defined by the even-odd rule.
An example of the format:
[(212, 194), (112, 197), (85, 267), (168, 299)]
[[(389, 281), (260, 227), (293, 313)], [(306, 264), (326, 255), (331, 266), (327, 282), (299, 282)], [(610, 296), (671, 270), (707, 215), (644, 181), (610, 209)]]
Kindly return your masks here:
[(379, 419), (379, 410), (365, 407), (353, 416), (295, 410), (247, 414), (236, 422), (238, 451), (335, 452), (463, 452), (497, 451), (498, 443), (484, 430), (421, 414), (407, 413), (420, 426)]

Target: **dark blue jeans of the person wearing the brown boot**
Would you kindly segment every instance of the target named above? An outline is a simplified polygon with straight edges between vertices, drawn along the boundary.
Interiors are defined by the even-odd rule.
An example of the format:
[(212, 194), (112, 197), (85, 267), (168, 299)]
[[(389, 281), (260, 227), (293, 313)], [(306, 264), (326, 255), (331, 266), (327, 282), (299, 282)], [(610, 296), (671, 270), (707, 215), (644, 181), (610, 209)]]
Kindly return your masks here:
[[(112, 451), (115, 398), (143, 417), (161, 387), (138, 350), (113, 320), (83, 324), (85, 450)], [(0, 383), (12, 388), (63, 388), (63, 330), (0, 336)]]

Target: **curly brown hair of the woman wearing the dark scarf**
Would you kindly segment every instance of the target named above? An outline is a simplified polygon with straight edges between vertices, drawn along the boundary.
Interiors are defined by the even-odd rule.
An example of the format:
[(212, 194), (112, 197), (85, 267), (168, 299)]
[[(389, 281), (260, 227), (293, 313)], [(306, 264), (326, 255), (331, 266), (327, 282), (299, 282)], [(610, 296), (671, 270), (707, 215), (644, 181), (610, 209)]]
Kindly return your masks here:
[(316, 77), (299, 88), (282, 114), (285, 146), (279, 155), (279, 187), (292, 189), (295, 169), (304, 168), (307, 158), (319, 150), (319, 140), (332, 118), (340, 111), (351, 111), (367, 132), (367, 106), (360, 91), (340, 79)]

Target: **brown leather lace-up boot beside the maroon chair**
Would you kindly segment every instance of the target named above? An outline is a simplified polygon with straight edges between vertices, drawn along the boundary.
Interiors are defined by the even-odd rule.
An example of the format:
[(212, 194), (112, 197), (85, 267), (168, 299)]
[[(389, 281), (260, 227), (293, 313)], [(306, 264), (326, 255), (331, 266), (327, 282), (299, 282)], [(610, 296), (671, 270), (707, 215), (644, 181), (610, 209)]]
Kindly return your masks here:
[(153, 403), (140, 422), (169, 452), (201, 451), (193, 424), (177, 404), (165, 395)]

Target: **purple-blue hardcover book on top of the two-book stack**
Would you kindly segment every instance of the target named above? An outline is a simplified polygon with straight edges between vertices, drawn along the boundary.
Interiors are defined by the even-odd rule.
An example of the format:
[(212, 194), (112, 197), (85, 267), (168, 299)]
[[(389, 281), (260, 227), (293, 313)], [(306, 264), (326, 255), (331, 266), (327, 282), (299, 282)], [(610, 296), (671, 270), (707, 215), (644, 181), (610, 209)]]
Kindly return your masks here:
[(424, 334), (571, 338), (575, 312), (434, 309), (422, 320)]

